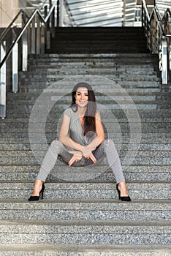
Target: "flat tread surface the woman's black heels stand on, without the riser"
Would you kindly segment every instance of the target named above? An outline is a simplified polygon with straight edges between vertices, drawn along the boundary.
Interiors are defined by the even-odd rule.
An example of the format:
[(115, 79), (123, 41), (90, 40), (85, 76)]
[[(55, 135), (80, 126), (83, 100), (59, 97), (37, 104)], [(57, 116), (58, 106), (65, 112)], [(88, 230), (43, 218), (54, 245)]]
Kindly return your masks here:
[[(27, 199), (23, 198), (0, 198), (0, 208), (3, 209), (5, 206), (12, 204), (15, 206), (15, 209), (20, 209), (20, 206), (23, 205), (24, 207), (28, 207), (28, 209), (33, 208), (35, 211), (39, 211), (39, 209), (43, 209), (45, 207), (60, 209), (60, 204), (63, 204), (64, 208), (68, 208), (69, 210), (80, 208), (84, 210), (82, 207), (89, 207), (89, 209), (97, 209), (99, 211), (104, 210), (107, 207), (108, 211), (113, 211), (113, 209), (126, 209), (129, 210), (145, 210), (148, 206), (153, 209), (161, 209), (161, 210), (169, 210), (171, 207), (171, 200), (170, 199), (134, 199), (130, 203), (129, 202), (122, 202), (118, 199), (46, 199), (46, 200), (39, 200), (37, 202), (29, 202)], [(37, 208), (35, 208), (35, 205)], [(115, 207), (114, 207), (115, 206)], [(164, 206), (164, 208), (163, 208)], [(116, 208), (117, 207), (117, 208)], [(24, 208), (23, 208), (24, 209)], [(10, 209), (11, 210), (11, 209)], [(148, 209), (149, 210), (149, 209)], [(150, 220), (150, 219), (149, 219)]]

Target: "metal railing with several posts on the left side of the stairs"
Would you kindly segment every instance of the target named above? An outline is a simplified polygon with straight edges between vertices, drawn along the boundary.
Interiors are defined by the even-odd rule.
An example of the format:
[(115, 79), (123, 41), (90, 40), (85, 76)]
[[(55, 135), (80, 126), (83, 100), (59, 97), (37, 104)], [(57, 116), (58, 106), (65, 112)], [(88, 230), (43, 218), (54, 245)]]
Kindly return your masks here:
[[(7, 60), (12, 58), (12, 91), (18, 91), (18, 62), (21, 62), (21, 69), (28, 68), (28, 53), (43, 54), (45, 48), (50, 48), (50, 38), (55, 37), (55, 26), (58, 25), (58, 0), (44, 1), (42, 7), (34, 10), (28, 17), (26, 12), (20, 10), (8, 28), (3, 31), (0, 37), (0, 117), (6, 117), (6, 77)], [(44, 11), (43, 11), (44, 10)], [(42, 11), (44, 15), (42, 15)], [(21, 15), (21, 28), (16, 25)], [(7, 48), (7, 34), (12, 29), (12, 44)], [(15, 33), (14, 33), (15, 31)], [(19, 49), (20, 43), (21, 47)], [(18, 59), (21, 56), (21, 60)]]

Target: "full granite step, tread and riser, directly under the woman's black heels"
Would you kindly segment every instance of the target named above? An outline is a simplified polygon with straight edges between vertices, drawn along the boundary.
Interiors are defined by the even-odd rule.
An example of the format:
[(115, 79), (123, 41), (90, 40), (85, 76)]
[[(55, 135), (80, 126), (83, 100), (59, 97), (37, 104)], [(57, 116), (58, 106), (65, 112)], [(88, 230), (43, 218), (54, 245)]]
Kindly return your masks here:
[[(115, 211), (114, 211), (115, 210)], [(1, 219), (169, 221), (170, 200), (0, 200)]]

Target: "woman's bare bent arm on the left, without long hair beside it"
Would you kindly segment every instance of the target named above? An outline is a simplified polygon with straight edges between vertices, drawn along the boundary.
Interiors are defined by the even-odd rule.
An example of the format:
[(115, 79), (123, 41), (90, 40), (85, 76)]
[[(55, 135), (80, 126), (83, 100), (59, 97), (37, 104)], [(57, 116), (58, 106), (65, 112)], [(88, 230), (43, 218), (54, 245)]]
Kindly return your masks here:
[(61, 143), (63, 143), (65, 146), (68, 146), (69, 148), (74, 148), (78, 151), (81, 151), (81, 149), (84, 148), (84, 146), (80, 145), (79, 143), (76, 143), (68, 136), (69, 124), (70, 118), (69, 116), (66, 116), (66, 114), (64, 114), (58, 140), (61, 141)]

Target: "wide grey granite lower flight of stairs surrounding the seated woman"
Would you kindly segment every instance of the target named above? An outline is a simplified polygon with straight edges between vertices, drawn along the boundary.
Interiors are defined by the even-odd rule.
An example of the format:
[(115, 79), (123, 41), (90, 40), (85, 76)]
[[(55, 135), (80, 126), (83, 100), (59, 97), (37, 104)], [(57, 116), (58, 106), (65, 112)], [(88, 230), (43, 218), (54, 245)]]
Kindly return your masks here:
[[(29, 57), (28, 72), (20, 72), (20, 91), (7, 94), (7, 118), (0, 123), (0, 255), (170, 255), (171, 94), (170, 85), (160, 85), (156, 67), (157, 58), (149, 53)], [(50, 143), (77, 80), (92, 83), (99, 108), (106, 107), (102, 118), (111, 130), (105, 132), (115, 140), (126, 167), (131, 203), (118, 200), (105, 159), (96, 170), (91, 168), (90, 179), (80, 178), (81, 168), (69, 168), (58, 160), (58, 173), (54, 168), (47, 178), (45, 199), (27, 200), (46, 151), (41, 140), (45, 115), (43, 129)], [(126, 93), (134, 101), (131, 104)], [(56, 102), (52, 108), (48, 95)], [(39, 111), (30, 119), (37, 99)], [(129, 119), (136, 124), (134, 105), (141, 140), (137, 154), (132, 149), (132, 165), (126, 166), (131, 138), (126, 115), (132, 113)], [(31, 145), (28, 135), (34, 132)]]

